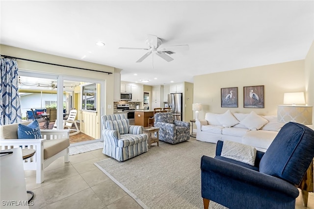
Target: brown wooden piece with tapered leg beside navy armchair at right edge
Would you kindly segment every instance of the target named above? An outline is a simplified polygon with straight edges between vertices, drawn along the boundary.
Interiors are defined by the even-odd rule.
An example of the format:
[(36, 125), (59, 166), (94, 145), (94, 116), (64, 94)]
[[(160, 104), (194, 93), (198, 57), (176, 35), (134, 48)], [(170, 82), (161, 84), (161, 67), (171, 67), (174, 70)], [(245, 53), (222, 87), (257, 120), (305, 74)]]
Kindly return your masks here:
[(314, 186), (313, 186), (313, 161), (310, 164), (308, 170), (304, 174), (304, 177), (300, 183), (298, 188), (300, 188), (301, 194), (302, 194), (302, 199), (303, 199), (303, 206), (307, 207), (308, 206), (308, 198), (309, 198), (309, 192), (314, 191)]

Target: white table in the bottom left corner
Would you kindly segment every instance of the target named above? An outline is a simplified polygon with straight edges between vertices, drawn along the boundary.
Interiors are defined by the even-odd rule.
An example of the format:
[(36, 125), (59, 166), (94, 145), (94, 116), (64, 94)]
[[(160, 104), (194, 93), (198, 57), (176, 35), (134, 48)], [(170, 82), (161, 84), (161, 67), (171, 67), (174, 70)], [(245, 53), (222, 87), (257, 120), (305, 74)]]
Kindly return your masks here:
[(1, 150), (4, 151), (13, 153), (0, 157), (0, 208), (28, 209), (22, 149)]

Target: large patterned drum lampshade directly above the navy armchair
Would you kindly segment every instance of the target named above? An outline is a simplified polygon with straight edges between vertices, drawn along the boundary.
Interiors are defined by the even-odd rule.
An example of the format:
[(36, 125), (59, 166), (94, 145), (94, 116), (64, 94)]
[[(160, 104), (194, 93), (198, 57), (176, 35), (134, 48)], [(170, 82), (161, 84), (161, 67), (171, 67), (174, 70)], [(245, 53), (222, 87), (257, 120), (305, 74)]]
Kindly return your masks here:
[(277, 120), (279, 122), (297, 122), (304, 125), (312, 124), (312, 106), (278, 105)]

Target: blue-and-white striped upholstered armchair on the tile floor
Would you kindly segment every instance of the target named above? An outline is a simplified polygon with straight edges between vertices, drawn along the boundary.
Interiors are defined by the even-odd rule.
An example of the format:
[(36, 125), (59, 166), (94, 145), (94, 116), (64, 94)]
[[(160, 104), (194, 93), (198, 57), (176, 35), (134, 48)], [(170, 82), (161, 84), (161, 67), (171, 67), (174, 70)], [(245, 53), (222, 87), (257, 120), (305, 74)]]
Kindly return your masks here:
[(130, 125), (124, 115), (102, 116), (103, 153), (117, 161), (126, 161), (148, 150), (143, 126)]

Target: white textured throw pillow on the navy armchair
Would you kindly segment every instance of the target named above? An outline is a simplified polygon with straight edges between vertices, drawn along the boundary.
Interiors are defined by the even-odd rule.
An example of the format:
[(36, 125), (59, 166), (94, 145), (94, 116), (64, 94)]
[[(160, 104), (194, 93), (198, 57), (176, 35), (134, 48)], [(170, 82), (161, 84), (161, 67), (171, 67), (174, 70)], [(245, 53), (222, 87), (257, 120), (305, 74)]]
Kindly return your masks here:
[(220, 156), (254, 166), (256, 148), (246, 144), (225, 140), (222, 145)]

